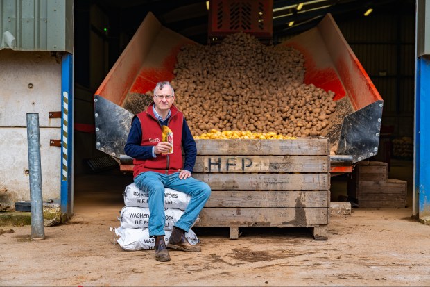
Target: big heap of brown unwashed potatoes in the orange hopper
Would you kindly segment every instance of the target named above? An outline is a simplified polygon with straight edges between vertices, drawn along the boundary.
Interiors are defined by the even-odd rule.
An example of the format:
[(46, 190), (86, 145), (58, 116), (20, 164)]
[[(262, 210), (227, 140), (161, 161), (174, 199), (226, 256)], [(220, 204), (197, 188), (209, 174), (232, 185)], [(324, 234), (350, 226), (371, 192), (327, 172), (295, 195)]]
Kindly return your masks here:
[(212, 46), (189, 45), (175, 66), (175, 105), (193, 136), (211, 129), (318, 136), (336, 109), (334, 92), (303, 83), (304, 58), (246, 33)]

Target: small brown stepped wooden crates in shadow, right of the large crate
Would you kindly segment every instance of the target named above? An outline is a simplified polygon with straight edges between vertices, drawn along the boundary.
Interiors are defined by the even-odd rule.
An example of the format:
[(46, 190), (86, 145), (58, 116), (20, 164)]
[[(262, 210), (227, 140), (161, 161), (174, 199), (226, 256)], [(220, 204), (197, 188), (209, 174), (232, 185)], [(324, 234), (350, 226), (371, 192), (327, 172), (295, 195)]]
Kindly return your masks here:
[(360, 207), (404, 208), (407, 182), (388, 179), (388, 164), (380, 161), (356, 165), (347, 183), (347, 195)]

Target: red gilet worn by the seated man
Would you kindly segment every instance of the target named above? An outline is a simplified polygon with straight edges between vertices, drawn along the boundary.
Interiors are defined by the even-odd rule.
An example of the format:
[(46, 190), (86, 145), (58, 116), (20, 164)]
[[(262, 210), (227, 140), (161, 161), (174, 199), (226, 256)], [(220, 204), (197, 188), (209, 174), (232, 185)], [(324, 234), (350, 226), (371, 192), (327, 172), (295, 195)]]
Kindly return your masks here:
[[(161, 172), (164, 174), (173, 174), (182, 169), (182, 124), (184, 122), (184, 114), (178, 108), (171, 106), (171, 117), (167, 122), (167, 126), (173, 131), (173, 154), (162, 156), (157, 154), (156, 158), (148, 158), (144, 160), (134, 159), (133, 177), (137, 177), (141, 172)], [(157, 145), (162, 141), (162, 126), (154, 115), (153, 104), (137, 114), (142, 130), (142, 140), (140, 145)]]

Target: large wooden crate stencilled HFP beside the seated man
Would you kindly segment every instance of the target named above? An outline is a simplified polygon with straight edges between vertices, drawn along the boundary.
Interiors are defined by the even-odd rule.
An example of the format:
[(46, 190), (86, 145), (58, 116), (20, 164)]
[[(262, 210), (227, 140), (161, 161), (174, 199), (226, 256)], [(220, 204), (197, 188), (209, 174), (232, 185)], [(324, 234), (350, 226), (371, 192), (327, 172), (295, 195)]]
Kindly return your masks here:
[(327, 239), (330, 162), (327, 138), (196, 140), (193, 177), (212, 195), (200, 227), (312, 227)]

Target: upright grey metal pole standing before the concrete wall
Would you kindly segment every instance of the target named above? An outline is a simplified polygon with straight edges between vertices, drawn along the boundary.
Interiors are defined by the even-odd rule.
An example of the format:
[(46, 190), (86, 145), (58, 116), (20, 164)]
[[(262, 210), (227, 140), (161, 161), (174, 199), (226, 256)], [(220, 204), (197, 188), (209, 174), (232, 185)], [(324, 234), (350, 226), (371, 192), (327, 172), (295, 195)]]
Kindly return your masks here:
[(39, 114), (27, 113), (28, 170), (30, 170), (31, 239), (44, 239)]

